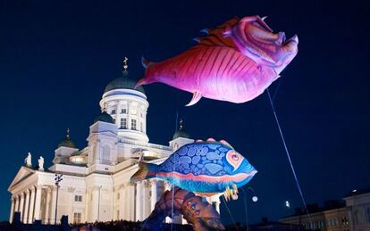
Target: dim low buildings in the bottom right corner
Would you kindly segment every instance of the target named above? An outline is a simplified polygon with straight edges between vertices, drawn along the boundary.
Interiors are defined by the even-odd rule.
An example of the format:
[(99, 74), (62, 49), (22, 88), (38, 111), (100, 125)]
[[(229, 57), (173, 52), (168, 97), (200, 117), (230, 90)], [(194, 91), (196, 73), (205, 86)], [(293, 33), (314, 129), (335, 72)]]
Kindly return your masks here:
[(343, 198), (344, 202), (327, 201), (324, 206), (307, 205), (309, 216), (302, 209), (279, 221), (295, 224), (311, 230), (366, 231), (370, 230), (370, 189), (353, 190)]

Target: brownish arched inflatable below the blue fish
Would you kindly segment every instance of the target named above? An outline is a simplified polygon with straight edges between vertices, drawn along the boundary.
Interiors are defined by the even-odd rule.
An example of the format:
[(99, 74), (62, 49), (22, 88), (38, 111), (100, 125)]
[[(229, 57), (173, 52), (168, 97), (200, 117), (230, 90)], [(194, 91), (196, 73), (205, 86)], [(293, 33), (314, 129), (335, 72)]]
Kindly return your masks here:
[(163, 220), (165, 217), (171, 218), (172, 210), (175, 215), (182, 214), (195, 231), (225, 229), (214, 206), (204, 202), (202, 197), (177, 186), (173, 188), (173, 192), (167, 190), (162, 194), (155, 209), (143, 221), (143, 229), (164, 230)]

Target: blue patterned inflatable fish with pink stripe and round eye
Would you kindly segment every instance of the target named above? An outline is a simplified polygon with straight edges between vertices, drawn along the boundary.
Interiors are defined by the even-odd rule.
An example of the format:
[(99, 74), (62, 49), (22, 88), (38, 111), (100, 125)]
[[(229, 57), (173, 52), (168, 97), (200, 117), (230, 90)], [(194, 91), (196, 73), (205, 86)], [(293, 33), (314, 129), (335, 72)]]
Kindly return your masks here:
[(223, 193), (238, 198), (238, 187), (255, 176), (256, 169), (225, 141), (198, 141), (183, 145), (160, 165), (139, 162), (132, 182), (156, 177), (196, 194)]

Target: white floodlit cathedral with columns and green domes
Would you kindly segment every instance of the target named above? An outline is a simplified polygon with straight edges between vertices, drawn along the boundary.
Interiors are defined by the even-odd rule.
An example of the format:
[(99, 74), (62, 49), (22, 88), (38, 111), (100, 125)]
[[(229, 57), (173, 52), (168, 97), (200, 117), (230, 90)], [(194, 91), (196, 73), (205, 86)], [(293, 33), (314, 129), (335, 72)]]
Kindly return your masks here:
[[(82, 149), (71, 141), (69, 132), (55, 149), (53, 165), (44, 169), (44, 159), (25, 160), (8, 191), (12, 194), (10, 221), (21, 212), (23, 223), (41, 220), (59, 223), (68, 215), (70, 223), (143, 220), (171, 185), (157, 179), (132, 184), (139, 158), (160, 164), (181, 145), (194, 142), (179, 129), (169, 145), (151, 144), (147, 137), (147, 96), (144, 88), (123, 71), (106, 87), (100, 101), (101, 114), (89, 128), (88, 146)], [(62, 181), (55, 186), (55, 174)], [(207, 197), (220, 211), (218, 195)], [(56, 213), (56, 215), (55, 215)], [(56, 216), (56, 217), (55, 217)], [(171, 219), (166, 219), (172, 222)], [(181, 216), (174, 223), (185, 222)]]

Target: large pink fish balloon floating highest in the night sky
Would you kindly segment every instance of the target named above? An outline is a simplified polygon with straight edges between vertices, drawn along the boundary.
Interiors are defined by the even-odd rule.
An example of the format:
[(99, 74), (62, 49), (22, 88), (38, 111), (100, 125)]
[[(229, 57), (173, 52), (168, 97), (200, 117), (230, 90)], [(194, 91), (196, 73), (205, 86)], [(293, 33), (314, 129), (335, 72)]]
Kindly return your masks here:
[(189, 50), (163, 62), (147, 62), (137, 87), (164, 83), (193, 94), (187, 106), (201, 97), (245, 103), (261, 95), (298, 53), (297, 36), (285, 40), (259, 16), (231, 19)]

